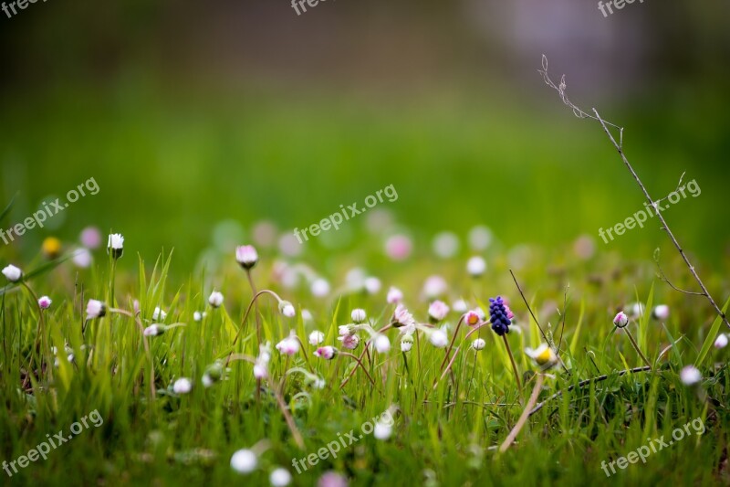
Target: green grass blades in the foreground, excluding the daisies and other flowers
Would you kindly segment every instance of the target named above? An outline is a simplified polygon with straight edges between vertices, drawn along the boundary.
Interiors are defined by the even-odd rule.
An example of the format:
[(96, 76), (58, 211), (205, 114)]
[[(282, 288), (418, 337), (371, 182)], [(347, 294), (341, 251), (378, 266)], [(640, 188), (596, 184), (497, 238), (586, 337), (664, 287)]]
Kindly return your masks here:
[[(378, 245), (377, 238), (361, 245)], [(68, 434), (75, 421), (92, 411), (99, 411), (103, 418), (101, 426), (84, 429), (68, 444), (52, 450), (46, 461), (35, 461), (14, 474), (11, 484), (197, 485), (243, 480), (263, 485), (276, 466), (287, 468), (295, 485), (316, 484), (330, 470), (347, 476), (352, 485), (728, 482), (727, 352), (703, 350), (706, 359), (699, 366), (704, 379), (697, 386), (684, 386), (678, 375), (700, 355), (712, 311), (704, 302), (653, 281), (649, 277), (652, 270), (645, 264), (617, 267), (607, 254), (560, 263), (558, 256), (564, 252), (533, 249), (535, 257), (516, 275), (548, 339), (561, 344), (569, 374), (559, 369), (548, 373), (537, 400), (558, 391), (563, 394), (529, 417), (516, 443), (500, 454), (496, 449), (526, 408), (538, 372), (523, 350), (541, 342), (537, 323), (529, 319), (509, 275), (511, 264), (503, 256), (488, 251), (489, 270), (476, 280), (460, 271), (461, 259), (438, 269), (430, 259), (412, 259), (391, 270), (382, 266), (383, 290), (374, 295), (344, 291), (327, 299), (312, 297), (308, 286), (282, 286), (273, 260), (263, 258), (253, 270), (258, 289), (274, 290), (297, 307), (296, 317), (289, 319), (279, 312), (276, 300), (263, 295), (259, 310), (264, 339), (276, 344), (293, 330), (304, 343), (306, 356), (300, 351), (287, 358), (275, 349), (269, 365), (273, 380), (263, 381), (256, 393), (252, 365), (245, 361), (231, 362), (224, 380), (214, 386), (206, 388), (201, 383), (207, 368), (232, 352), (258, 355), (253, 314), (243, 323), (242, 339), (233, 345), (252, 294), (231, 250), (216, 275), (192, 275), (186, 281), (172, 281), (172, 254), (163, 254), (151, 266), (141, 258), (135, 262), (129, 252), (118, 261), (114, 282), (110, 282), (110, 264), (105, 259), (90, 270), (74, 270), (65, 262), (29, 278), (30, 288), (54, 300), (44, 312), (47, 326), (42, 332), (47, 343), (58, 349), (68, 345), (75, 355), (68, 363), (66, 355), (59, 354), (56, 367), (50, 366), (50, 355), (33, 347), (39, 312), (29, 291), (22, 286), (6, 288), (0, 333), (3, 459), (16, 460), (45, 441), (47, 434), (60, 430)], [(352, 256), (339, 254), (331, 260), (328, 278), (339, 283)], [(663, 265), (670, 275), (683, 275), (677, 260), (667, 259)], [(419, 322), (425, 322), (427, 302), (420, 298), (421, 283), (432, 272), (447, 278), (447, 302), (464, 297), (472, 306), (486, 309), (489, 296), (511, 298), (521, 333), (513, 330), (507, 336), (526, 383), (523, 390), (516, 387), (504, 344), (488, 326), (476, 333), (487, 343), (481, 352), (469, 348), (468, 342), (463, 346), (464, 327), (459, 332), (455, 344), (463, 351), (454, 361), (454, 382), (446, 375), (432, 387), (440, 376), (443, 348), (434, 347), (421, 333), (412, 350), (401, 353), (399, 333), (390, 330), (385, 333), (391, 351), (372, 351), (370, 359), (363, 359), (377, 385), (370, 386), (368, 376), (359, 370), (340, 390), (339, 383), (353, 361), (343, 355), (331, 361), (317, 358), (308, 334), (318, 329), (326, 335), (324, 344), (339, 346), (338, 325), (350, 323), (349, 312), (356, 307), (368, 312), (376, 329), (390, 323), (393, 305), (385, 302), (384, 295), (391, 284), (401, 286), (409, 309)], [(568, 281), (568, 304), (563, 309)], [(225, 297), (224, 305), (217, 309), (206, 304), (213, 288)], [(185, 326), (145, 338), (133, 317), (108, 312), (90, 320), (82, 334), (86, 302), (93, 298), (110, 303), (110, 289), (115, 291), (116, 308), (133, 312), (133, 301), (139, 302), (142, 326), (151, 323), (157, 306), (167, 312), (164, 323)], [(725, 287), (722, 292), (728, 294)], [(651, 372), (620, 376), (617, 371), (642, 364), (626, 337), (614, 333), (611, 319), (613, 312), (637, 296), (647, 309), (659, 302), (668, 304), (671, 318), (658, 323), (646, 313), (629, 325), (656, 366)], [(313, 322), (302, 319), (304, 308), (314, 315)], [(565, 312), (564, 331), (556, 308)], [(193, 320), (196, 311), (206, 311), (202, 322)], [(446, 321), (451, 325), (451, 337), (458, 314), (450, 312)], [(367, 337), (360, 334), (356, 355)], [(41, 361), (42, 372), (37, 366)], [(304, 449), (297, 447), (272, 388), (293, 367), (311, 370), (326, 381), (325, 388), (317, 389), (304, 375), (292, 374), (282, 384), (282, 397)], [(28, 375), (28, 370), (34, 372)], [(579, 381), (601, 375), (607, 376), (605, 380), (579, 386)], [(172, 383), (183, 376), (192, 379), (193, 389), (190, 394), (177, 395)], [(319, 460), (297, 474), (293, 460), (318, 452), (350, 430), (360, 431), (363, 423), (389, 408), (394, 418), (390, 439), (364, 435), (343, 448), (336, 459)], [(690, 426), (684, 430), (692, 434), (652, 452), (645, 463), (617, 469), (610, 478), (601, 470), (603, 461), (627, 456), (648, 445), (649, 439), (663, 437), (666, 441), (674, 429), (683, 429), (693, 420), (695, 425), (697, 421), (704, 425), (703, 434), (696, 434)], [(261, 455), (258, 469), (241, 477), (230, 467), (232, 454), (261, 440), (268, 442), (268, 449)]]

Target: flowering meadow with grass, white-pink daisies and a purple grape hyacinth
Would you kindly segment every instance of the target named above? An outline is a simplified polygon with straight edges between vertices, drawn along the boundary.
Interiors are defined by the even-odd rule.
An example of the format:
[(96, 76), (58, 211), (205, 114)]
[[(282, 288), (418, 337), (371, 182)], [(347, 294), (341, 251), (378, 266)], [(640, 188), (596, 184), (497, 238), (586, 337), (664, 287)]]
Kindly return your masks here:
[[(727, 351), (707, 339), (704, 300), (584, 241), (557, 249), (573, 258), (556, 264), (537, 248), (507, 259), (485, 235), (469, 241), (486, 269), (452, 255), (436, 270), (433, 258), (396, 253), (397, 278), (381, 278), (339, 255), (335, 290), (265, 249), (232, 248), (218, 275), (183, 281), (172, 279), (173, 253), (145, 265), (120, 251), (129, 240), (106, 249), (101, 238), (89, 269), (50, 256), (2, 296), (5, 461), (90, 413), (102, 423), (5, 482), (727, 482)], [(662, 270), (686, 272), (672, 256)], [(36, 300), (48, 282), (47, 305)], [(506, 316), (491, 312), (497, 295), (512, 316), (504, 338), (490, 325)], [(622, 309), (629, 323), (617, 328)], [(351, 336), (354, 348), (341, 339)], [(540, 344), (551, 348), (533, 354)], [(683, 372), (693, 364), (700, 377)], [(683, 438), (670, 445), (675, 429)], [(363, 433), (346, 441), (353, 431)], [(347, 445), (336, 458), (333, 442)]]

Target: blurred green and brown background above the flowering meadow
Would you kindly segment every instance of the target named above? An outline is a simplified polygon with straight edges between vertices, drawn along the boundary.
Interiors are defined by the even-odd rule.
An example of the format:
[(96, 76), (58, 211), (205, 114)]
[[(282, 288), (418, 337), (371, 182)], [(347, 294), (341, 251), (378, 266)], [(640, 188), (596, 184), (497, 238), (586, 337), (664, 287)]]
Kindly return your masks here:
[[(652, 196), (683, 173), (696, 180), (702, 195), (665, 215), (687, 249), (720, 259), (728, 10), (648, 1), (604, 18), (568, 0), (340, 0), (297, 16), (283, 0), (51, 0), (0, 14), (0, 196), (17, 194), (8, 222), (90, 177), (100, 187), (5, 258), (96, 225), (148, 259), (174, 247), (173, 268), (187, 271), (221, 221), (291, 232), (394, 185), (398, 200), (381, 207), (416, 249), (485, 224), (507, 247), (587, 234), (600, 251), (650, 259), (667, 244), (656, 222), (598, 239), (642, 196), (600, 126), (543, 83), (544, 53), (573, 101), (626, 128)], [(340, 230), (338, 251), (357, 246), (365, 223)]]

